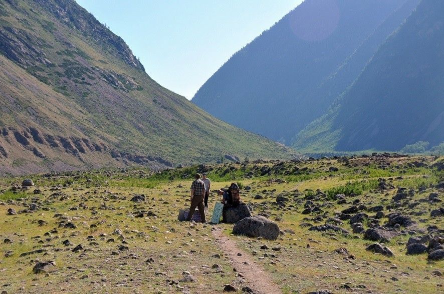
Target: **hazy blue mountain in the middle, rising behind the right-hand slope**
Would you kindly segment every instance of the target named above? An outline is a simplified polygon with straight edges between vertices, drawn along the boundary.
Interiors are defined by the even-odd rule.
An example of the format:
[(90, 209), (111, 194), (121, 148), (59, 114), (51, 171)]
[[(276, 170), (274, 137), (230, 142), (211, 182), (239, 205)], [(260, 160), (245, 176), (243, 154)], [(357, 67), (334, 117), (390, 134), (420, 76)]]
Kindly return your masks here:
[(357, 78), (418, 2), (305, 0), (236, 52), (192, 101), (290, 144)]

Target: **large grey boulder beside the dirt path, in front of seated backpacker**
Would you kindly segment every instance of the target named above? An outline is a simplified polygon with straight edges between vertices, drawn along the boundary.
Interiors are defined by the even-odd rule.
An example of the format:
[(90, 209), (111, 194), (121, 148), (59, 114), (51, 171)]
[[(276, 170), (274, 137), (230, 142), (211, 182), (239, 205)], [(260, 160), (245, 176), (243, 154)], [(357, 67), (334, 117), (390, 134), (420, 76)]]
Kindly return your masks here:
[(279, 236), (279, 226), (264, 216), (256, 215), (238, 221), (233, 227), (233, 233), (276, 240)]

